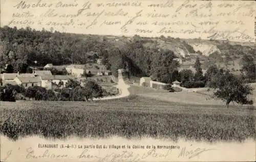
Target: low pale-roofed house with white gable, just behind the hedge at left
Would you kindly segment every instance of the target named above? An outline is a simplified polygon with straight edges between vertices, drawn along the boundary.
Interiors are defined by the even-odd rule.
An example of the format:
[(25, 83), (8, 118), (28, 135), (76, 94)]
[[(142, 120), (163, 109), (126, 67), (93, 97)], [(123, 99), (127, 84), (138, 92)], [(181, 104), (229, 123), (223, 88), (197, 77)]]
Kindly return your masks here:
[(41, 78), (40, 78), (40, 76), (35, 76), (35, 77), (20, 77), (20, 76), (17, 76), (17, 77), (15, 77), (14, 80), (17, 83), (17, 85), (23, 86), (25, 88), (33, 87), (33, 86), (41, 87)]

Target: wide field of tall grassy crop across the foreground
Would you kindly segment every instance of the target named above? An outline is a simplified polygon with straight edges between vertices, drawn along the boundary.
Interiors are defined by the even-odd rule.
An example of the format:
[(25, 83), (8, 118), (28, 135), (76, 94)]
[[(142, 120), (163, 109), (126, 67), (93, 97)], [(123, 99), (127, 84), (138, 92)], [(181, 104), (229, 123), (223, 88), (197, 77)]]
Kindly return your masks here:
[(63, 139), (180, 138), (193, 141), (255, 140), (255, 110), (247, 106), (189, 105), (130, 96), (95, 102), (1, 102), (0, 131)]

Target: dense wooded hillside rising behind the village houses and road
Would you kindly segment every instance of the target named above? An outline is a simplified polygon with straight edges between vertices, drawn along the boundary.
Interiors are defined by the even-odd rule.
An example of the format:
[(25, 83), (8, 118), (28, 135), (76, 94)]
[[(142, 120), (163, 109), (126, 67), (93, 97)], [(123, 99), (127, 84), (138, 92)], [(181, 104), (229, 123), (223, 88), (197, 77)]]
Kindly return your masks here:
[(30, 28), (0, 28), (0, 66), (11, 64), (14, 72), (26, 72), (28, 66), (45, 66), (48, 63), (86, 64), (98, 58), (103, 59), (103, 64), (113, 74), (117, 74), (118, 68), (126, 68), (130, 75), (154, 75), (161, 82), (171, 77), (169, 73), (177, 70), (178, 66), (173, 62), (176, 58), (173, 51), (157, 46), (145, 47), (139, 36), (118, 48), (98, 36), (79, 38), (72, 34)]

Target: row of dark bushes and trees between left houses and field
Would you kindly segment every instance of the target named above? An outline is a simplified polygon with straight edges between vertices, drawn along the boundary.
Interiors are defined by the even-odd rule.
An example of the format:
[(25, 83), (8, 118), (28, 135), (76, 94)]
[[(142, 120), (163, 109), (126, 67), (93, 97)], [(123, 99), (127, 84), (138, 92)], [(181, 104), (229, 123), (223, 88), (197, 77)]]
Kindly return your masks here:
[(94, 80), (88, 80), (81, 86), (79, 82), (71, 79), (65, 88), (55, 88), (54, 90), (39, 86), (25, 89), (18, 85), (5, 85), (0, 88), (0, 100), (2, 101), (25, 100), (26, 98), (48, 101), (89, 101), (93, 98), (110, 95)]

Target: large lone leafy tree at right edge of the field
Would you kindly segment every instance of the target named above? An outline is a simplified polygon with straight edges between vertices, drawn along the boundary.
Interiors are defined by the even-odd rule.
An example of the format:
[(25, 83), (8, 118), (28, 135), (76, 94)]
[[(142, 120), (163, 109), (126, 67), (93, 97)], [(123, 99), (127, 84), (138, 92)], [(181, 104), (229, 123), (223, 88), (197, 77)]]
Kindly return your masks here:
[(244, 82), (242, 78), (238, 78), (233, 74), (226, 72), (217, 73), (215, 79), (212, 79), (209, 87), (214, 89), (214, 96), (226, 102), (226, 106), (230, 102), (239, 104), (252, 104), (252, 100), (248, 100), (248, 95), (252, 94), (252, 87)]

